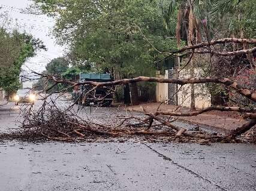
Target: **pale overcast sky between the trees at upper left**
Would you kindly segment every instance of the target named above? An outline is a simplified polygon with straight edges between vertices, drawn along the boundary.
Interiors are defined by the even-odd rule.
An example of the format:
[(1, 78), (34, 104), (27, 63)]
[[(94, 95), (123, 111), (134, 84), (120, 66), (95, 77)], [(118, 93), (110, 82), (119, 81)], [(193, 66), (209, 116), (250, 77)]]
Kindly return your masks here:
[[(29, 0), (0, 0), (0, 12), (8, 12), (8, 15), (19, 24), (20, 28), (31, 33), (35, 38), (40, 38), (47, 51), (37, 53), (37, 56), (30, 58), (25, 66), (37, 72), (45, 70), (46, 64), (56, 58), (62, 56), (64, 48), (56, 45), (55, 39), (50, 35), (50, 30), (53, 28), (55, 21), (44, 15), (35, 16), (32, 14), (22, 14), (20, 10), (28, 7), (31, 4)], [(23, 67), (25, 69), (26, 67)]]

